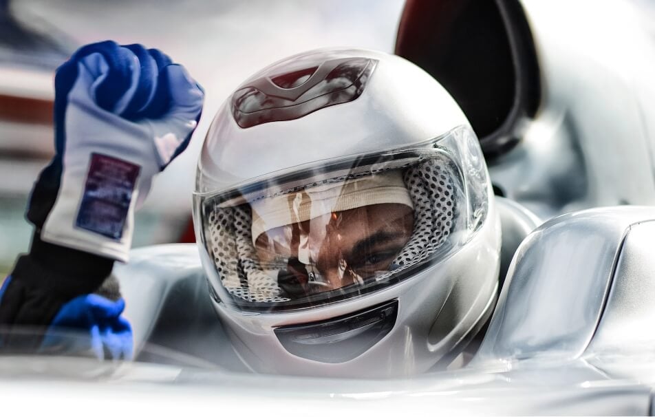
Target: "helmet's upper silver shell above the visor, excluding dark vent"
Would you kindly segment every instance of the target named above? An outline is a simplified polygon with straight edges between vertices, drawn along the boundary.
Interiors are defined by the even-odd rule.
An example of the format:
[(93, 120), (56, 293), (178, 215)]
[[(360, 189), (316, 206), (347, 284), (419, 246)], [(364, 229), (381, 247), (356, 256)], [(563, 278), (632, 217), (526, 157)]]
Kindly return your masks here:
[[(219, 109), (200, 154), (198, 193), (228, 189), (259, 175), (347, 155), (395, 149), (469, 125), (457, 103), (425, 71), (404, 58), (368, 50), (316, 50), (262, 69), (237, 88), (330, 59), (369, 58), (375, 69), (356, 100), (292, 120), (246, 129), (232, 100)], [(438, 116), (436, 116), (438, 115)]]

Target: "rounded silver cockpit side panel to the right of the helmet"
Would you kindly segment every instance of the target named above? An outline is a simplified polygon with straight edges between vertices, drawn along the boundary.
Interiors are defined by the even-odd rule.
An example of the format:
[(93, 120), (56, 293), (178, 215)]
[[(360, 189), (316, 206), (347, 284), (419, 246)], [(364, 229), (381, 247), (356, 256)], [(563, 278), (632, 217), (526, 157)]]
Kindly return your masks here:
[[(541, 356), (569, 361), (586, 352), (590, 343), (602, 345), (603, 339), (623, 343), (625, 338), (616, 329), (627, 330), (625, 326), (634, 319), (631, 321), (621, 310), (632, 311), (640, 320), (641, 314), (651, 310), (644, 303), (638, 308), (630, 298), (644, 299), (630, 280), (641, 282), (644, 289), (652, 286), (646, 277), (653, 270), (641, 260), (643, 256), (638, 256), (632, 243), (638, 242), (639, 235), (630, 237), (631, 228), (636, 227), (633, 225), (650, 220), (655, 220), (655, 208), (597, 208), (562, 215), (537, 228), (519, 246), (474, 361), (515, 361)], [(641, 250), (651, 246), (645, 243)], [(643, 272), (626, 278), (630, 266), (643, 268)], [(625, 290), (622, 297), (616, 295), (621, 294), (621, 288), (630, 288), (630, 297)], [(607, 301), (608, 292), (612, 302)], [(617, 297), (623, 303), (614, 301)], [(599, 322), (612, 323), (612, 317), (617, 315), (625, 317), (621, 325), (607, 327), (610, 330), (605, 331), (607, 325), (599, 327)], [(642, 322), (636, 321), (636, 328), (639, 323)], [(634, 325), (630, 328), (631, 334), (639, 334)]]

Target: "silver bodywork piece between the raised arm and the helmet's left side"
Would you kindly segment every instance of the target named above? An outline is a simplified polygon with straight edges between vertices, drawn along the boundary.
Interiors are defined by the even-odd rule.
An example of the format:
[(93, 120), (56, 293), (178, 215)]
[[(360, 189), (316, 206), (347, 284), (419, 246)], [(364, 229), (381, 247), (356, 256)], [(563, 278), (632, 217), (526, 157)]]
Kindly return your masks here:
[(129, 264), (114, 275), (127, 301), (138, 361), (150, 361), (155, 344), (224, 367), (246, 370), (233, 352), (219, 321), (195, 244), (151, 246), (134, 250)]

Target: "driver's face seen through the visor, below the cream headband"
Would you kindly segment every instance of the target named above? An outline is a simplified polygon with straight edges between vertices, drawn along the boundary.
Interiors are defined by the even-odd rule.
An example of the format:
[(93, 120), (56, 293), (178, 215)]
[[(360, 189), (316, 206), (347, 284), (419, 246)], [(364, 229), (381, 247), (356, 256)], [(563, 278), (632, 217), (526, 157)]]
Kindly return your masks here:
[(257, 237), (255, 248), (261, 266), (283, 271), (282, 288), (292, 281), (296, 295), (310, 295), (387, 271), (413, 228), (409, 206), (373, 204), (273, 228)]

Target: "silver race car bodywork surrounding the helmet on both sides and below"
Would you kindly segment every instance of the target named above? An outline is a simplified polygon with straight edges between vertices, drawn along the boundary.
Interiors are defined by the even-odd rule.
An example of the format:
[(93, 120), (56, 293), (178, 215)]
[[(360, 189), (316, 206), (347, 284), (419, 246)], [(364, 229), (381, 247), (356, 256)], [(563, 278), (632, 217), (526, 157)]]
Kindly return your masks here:
[[(502, 211), (507, 225), (511, 210)], [(525, 220), (519, 213), (514, 217)], [(256, 403), (253, 409), (279, 411), (292, 401), (299, 412), (330, 407), (359, 414), (374, 407), (390, 414), (429, 407), (456, 414), (650, 415), (654, 236), (655, 210), (649, 207), (597, 208), (546, 222), (516, 250), (468, 365), (375, 380), (250, 373), (213, 311), (195, 246), (142, 248), (115, 272), (127, 299), (137, 361), (169, 365), (96, 363), (105, 367), (101, 380), (122, 383), (98, 385), (95, 394), (103, 398), (127, 383), (129, 389), (141, 387), (142, 394), (133, 397), (138, 400), (184, 397), (207, 407), (248, 401)], [(178, 367), (180, 361), (150, 344), (196, 358), (195, 370), (189, 361)], [(143, 382), (166, 387), (144, 392)]]

